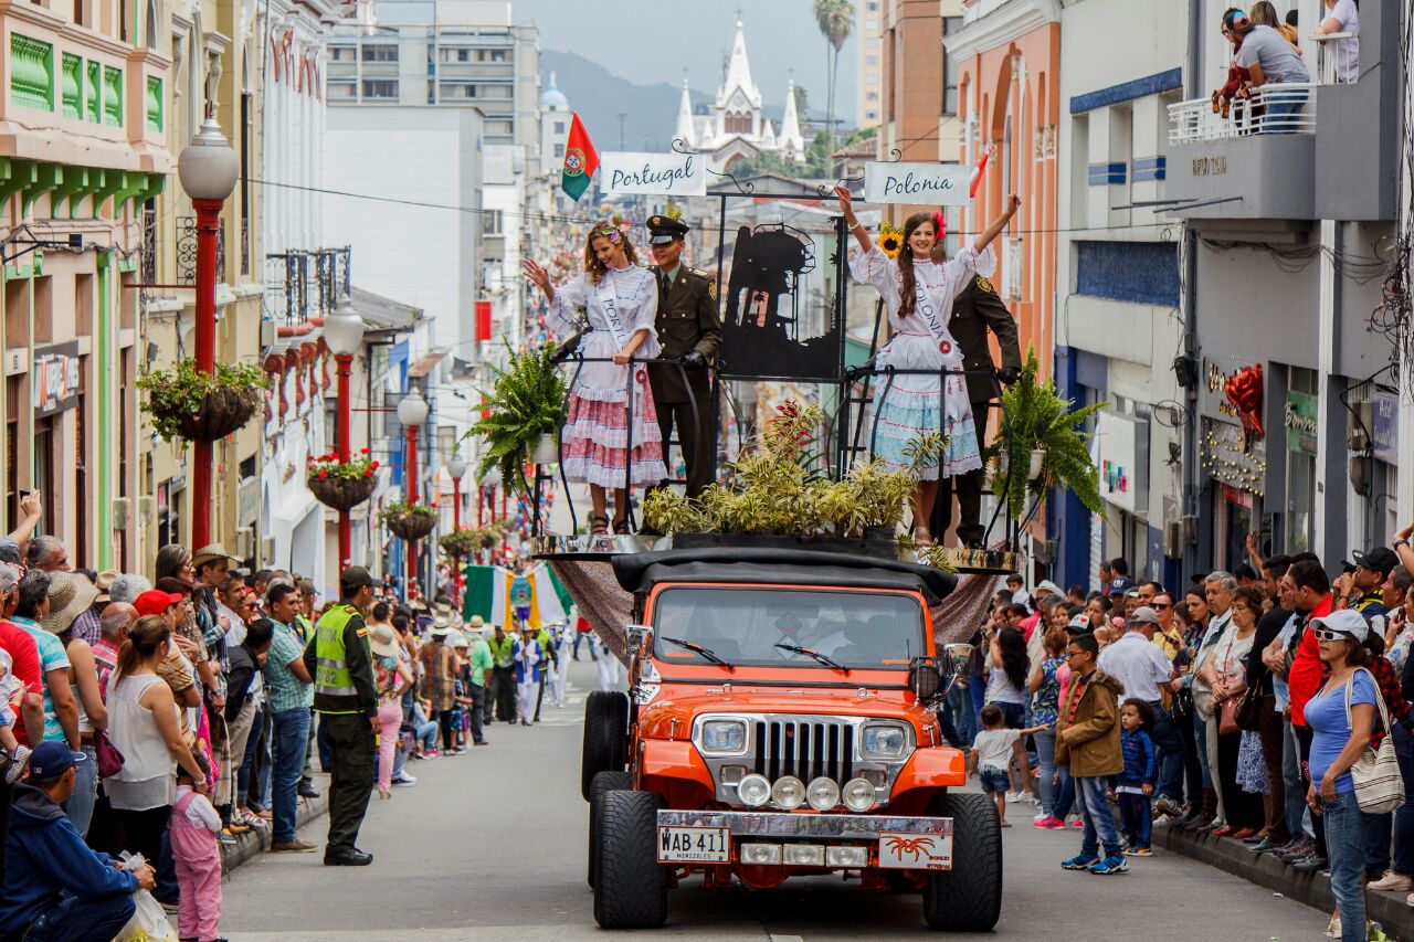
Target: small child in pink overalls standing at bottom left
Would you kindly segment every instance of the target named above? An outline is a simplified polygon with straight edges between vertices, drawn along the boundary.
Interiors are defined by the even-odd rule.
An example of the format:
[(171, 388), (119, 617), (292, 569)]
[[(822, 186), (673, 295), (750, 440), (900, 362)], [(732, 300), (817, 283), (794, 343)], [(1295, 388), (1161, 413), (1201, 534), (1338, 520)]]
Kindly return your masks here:
[[(192, 758), (206, 779), (211, 765), (206, 757)], [(177, 885), (181, 898), (177, 909), (177, 934), (185, 942), (225, 942), (216, 935), (221, 921), (221, 816), (211, 799), (192, 788), (191, 775), (177, 767), (177, 803), (168, 825), (173, 840), (173, 860), (177, 863)]]

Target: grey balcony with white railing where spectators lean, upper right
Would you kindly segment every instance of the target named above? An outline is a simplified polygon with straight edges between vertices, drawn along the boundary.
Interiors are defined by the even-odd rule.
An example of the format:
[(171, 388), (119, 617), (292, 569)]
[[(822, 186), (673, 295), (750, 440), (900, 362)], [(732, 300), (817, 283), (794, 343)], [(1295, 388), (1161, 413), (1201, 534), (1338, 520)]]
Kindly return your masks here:
[(1169, 212), (1188, 219), (1393, 219), (1400, 0), (1366, 0), (1360, 33), (1302, 37), (1311, 81), (1169, 105)]

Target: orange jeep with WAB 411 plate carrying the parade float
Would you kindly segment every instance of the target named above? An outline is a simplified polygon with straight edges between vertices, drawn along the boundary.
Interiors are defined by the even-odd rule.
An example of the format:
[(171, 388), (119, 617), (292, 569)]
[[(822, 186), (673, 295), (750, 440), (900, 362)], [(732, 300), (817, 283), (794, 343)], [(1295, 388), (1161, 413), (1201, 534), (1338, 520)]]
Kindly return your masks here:
[[(933, 929), (1001, 911), (997, 809), (937, 707), (954, 679), (929, 614), (937, 569), (812, 550), (614, 559), (633, 593), (631, 693), (585, 704), (594, 918), (653, 928), (667, 890), (773, 888), (844, 871), (922, 891)], [(959, 665), (960, 666), (960, 665)]]

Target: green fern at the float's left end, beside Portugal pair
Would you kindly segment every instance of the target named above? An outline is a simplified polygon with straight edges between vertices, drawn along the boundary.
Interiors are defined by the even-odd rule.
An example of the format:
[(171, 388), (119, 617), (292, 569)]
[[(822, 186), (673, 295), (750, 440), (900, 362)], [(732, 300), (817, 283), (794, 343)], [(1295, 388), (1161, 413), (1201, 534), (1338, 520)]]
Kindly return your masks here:
[(566, 383), (554, 362), (556, 347), (547, 342), (540, 349), (518, 354), (509, 349), (505, 369), (495, 371), (495, 385), (482, 395), (481, 419), (467, 437), (485, 440), (477, 479), (496, 465), (501, 479), (522, 492), (530, 489), (526, 481), (526, 461), (554, 464), (560, 460), (557, 434), (564, 424)]

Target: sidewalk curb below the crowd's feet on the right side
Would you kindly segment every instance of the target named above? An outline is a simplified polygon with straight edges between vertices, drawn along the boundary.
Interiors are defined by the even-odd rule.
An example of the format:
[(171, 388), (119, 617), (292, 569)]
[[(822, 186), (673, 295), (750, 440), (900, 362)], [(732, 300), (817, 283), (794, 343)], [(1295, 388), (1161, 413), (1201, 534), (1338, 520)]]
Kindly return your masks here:
[[(1249, 883), (1280, 892), (1328, 915), (1335, 911), (1329, 877), (1322, 873), (1297, 873), (1290, 864), (1273, 854), (1249, 853), (1241, 842), (1165, 826), (1154, 829), (1154, 843), (1219, 870), (1226, 870)], [(1414, 909), (1404, 904), (1408, 892), (1366, 891), (1365, 915), (1383, 925), (1390, 938), (1414, 942)]]

